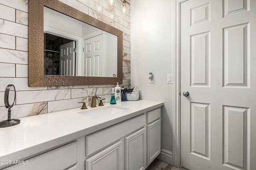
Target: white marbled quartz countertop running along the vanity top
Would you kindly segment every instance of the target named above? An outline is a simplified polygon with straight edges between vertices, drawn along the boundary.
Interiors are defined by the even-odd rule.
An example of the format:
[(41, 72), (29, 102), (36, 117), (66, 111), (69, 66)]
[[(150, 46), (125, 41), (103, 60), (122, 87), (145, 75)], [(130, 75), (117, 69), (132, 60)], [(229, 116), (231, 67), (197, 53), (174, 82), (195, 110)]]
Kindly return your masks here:
[[(110, 104), (104, 105), (94, 108), (88, 107), (86, 110), (110, 106)], [(79, 107), (22, 117), (20, 124), (0, 128), (0, 161), (28, 158), (163, 105), (163, 102), (149, 100), (126, 101), (114, 106), (128, 109), (109, 115), (104, 115), (104, 113), (93, 116), (81, 114), (78, 112), (85, 110), (81, 110)], [(0, 168), (1, 166), (4, 165), (0, 164)]]

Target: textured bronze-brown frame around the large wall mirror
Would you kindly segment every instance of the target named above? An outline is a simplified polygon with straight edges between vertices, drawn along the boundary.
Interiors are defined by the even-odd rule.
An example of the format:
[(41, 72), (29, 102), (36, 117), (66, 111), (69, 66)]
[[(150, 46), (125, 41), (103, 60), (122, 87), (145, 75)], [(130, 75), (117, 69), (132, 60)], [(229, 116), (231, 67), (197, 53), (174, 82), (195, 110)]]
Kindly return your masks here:
[[(44, 75), (44, 6), (83, 21), (118, 37), (118, 76), (86, 77)], [(28, 1), (28, 86), (122, 84), (123, 32), (58, 0)]]

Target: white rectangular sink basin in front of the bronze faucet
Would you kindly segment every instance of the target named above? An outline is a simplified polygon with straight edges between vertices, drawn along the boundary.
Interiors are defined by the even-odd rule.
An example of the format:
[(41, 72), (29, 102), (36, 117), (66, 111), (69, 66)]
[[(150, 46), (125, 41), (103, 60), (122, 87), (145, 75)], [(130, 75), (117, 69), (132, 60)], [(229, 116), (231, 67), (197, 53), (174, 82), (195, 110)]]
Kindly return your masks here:
[(90, 110), (79, 111), (78, 113), (81, 113), (83, 115), (87, 115), (90, 117), (98, 118), (98, 117), (102, 117), (102, 116), (120, 113), (127, 109), (129, 109), (129, 108), (120, 107), (120, 106), (106, 106), (106, 107), (96, 107), (96, 108), (93, 108)]

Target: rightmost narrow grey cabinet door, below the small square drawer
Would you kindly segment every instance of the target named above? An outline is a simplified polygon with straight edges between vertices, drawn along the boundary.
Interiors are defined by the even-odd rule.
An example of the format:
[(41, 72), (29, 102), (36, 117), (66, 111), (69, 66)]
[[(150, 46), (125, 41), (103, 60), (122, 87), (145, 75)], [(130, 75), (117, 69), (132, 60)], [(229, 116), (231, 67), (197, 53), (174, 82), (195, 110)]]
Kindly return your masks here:
[(148, 165), (161, 152), (161, 120), (158, 119), (147, 126), (147, 162)]

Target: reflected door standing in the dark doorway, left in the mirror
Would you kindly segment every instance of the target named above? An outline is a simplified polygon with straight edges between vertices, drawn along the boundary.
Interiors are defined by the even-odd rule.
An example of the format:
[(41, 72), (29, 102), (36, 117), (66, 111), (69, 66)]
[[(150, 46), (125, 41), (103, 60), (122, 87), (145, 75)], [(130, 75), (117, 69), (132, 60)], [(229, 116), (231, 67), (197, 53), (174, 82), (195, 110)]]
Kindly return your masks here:
[(60, 75), (75, 74), (75, 41), (60, 45)]

